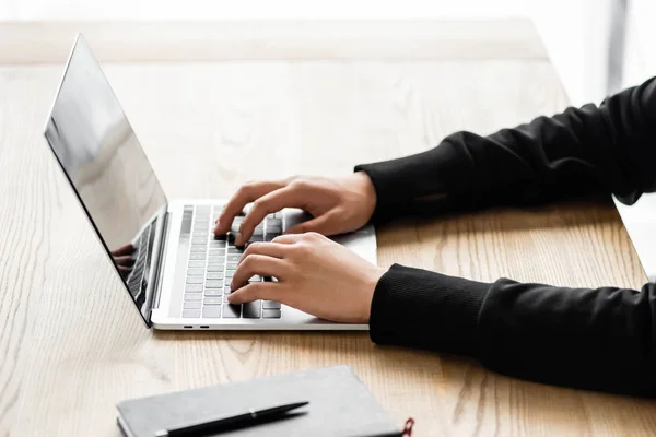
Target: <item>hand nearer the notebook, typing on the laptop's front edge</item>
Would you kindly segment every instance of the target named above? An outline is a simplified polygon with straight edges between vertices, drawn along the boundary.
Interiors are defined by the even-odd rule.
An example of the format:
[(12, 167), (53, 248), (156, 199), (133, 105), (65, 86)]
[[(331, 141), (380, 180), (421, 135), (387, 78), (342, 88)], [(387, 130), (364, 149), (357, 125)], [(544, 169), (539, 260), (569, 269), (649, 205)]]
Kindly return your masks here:
[[(278, 300), (326, 320), (367, 323), (374, 290), (385, 270), (317, 233), (253, 243), (235, 271), (231, 304)], [(254, 275), (278, 282), (254, 282)]]

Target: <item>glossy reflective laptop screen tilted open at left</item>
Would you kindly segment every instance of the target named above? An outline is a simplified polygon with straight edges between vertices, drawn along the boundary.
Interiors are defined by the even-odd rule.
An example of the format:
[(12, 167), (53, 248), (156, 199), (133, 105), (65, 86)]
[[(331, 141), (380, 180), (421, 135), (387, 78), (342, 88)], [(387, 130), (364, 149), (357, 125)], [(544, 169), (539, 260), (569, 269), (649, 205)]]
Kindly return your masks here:
[(154, 221), (166, 197), (82, 36), (75, 40), (45, 135), (148, 322)]

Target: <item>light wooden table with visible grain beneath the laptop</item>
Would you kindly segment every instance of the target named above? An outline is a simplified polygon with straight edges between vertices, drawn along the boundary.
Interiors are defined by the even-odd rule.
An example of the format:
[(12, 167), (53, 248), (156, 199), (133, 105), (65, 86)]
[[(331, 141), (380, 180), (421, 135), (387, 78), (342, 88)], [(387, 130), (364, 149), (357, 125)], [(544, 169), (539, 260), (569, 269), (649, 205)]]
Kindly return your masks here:
[[(0, 25), (0, 435), (116, 436), (116, 402), (347, 364), (419, 436), (651, 435), (656, 403), (501, 377), (366, 333), (147, 330), (42, 137), (81, 29), (169, 197), (341, 175), (566, 106), (530, 23)], [(379, 263), (572, 286), (645, 281), (610, 201), (379, 229)]]

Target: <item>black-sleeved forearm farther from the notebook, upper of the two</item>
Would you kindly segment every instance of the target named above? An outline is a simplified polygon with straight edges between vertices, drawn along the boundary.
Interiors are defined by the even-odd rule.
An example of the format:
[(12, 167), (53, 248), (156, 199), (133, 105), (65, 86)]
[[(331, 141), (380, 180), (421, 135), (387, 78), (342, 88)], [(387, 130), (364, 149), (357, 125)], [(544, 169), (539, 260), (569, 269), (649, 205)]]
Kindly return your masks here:
[(374, 221), (494, 205), (535, 204), (590, 192), (626, 203), (656, 188), (656, 81), (599, 107), (488, 137), (457, 132), (430, 151), (355, 169), (370, 175)]

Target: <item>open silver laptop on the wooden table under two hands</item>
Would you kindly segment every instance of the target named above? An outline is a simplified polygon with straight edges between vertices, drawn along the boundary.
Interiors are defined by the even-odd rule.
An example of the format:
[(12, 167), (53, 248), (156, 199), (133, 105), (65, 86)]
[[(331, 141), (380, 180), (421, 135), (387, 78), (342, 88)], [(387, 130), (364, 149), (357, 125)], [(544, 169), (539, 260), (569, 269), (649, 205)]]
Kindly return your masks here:
[[(149, 328), (166, 330), (366, 330), (321, 320), (278, 302), (227, 304), (243, 248), (215, 237), (226, 200), (169, 200), (89, 45), (78, 35), (45, 137), (109, 262)], [(235, 218), (235, 225), (244, 216)], [(270, 241), (306, 220), (284, 209), (258, 225)], [(333, 238), (376, 263), (372, 226)], [(254, 281), (276, 281), (254, 276)]]

